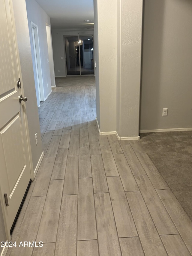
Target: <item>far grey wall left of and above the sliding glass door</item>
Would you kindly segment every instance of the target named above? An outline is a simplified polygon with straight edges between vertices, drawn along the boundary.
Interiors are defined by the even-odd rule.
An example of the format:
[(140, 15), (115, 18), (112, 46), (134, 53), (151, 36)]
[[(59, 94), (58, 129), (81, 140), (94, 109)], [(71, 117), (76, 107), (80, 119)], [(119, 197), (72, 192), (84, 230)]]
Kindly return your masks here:
[[(64, 51), (64, 38), (67, 35), (93, 35), (94, 31), (87, 29), (86, 31), (73, 31), (66, 29), (52, 29), (52, 47), (53, 47), (53, 59), (56, 77), (66, 76), (66, 62), (65, 62), (65, 51)], [(61, 59), (61, 57), (63, 59)], [(58, 72), (58, 70), (60, 72)]]

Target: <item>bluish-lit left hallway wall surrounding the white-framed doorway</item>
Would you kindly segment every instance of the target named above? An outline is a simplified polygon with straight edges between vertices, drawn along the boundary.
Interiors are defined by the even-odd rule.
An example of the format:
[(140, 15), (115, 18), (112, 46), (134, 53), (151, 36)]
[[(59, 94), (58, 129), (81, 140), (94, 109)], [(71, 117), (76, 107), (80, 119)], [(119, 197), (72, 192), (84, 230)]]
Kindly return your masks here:
[[(47, 45), (46, 22), (50, 24), (50, 18), (35, 0), (26, 0), (26, 7), (27, 7), (27, 17), (28, 17), (28, 24), (29, 24), (29, 35), (30, 35), (31, 46), (33, 45), (31, 21), (38, 26), (44, 97), (46, 98), (52, 90), (51, 86), (55, 86), (55, 84), (51, 84), (50, 67), (47, 61), (49, 60), (50, 56), (49, 56), (48, 45)], [(33, 67), (35, 70), (35, 59), (34, 59), (33, 47), (31, 47), (31, 51), (32, 51)], [(48, 87), (47, 87), (47, 84), (48, 84)]]

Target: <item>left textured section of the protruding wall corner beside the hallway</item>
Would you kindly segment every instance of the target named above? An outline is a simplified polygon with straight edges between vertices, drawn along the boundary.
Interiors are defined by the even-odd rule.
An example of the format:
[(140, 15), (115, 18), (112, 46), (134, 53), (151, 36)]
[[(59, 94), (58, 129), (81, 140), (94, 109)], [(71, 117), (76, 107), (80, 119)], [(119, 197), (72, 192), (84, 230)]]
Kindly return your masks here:
[[(99, 93), (99, 107), (101, 132), (116, 131), (116, 68), (117, 68), (117, 11), (116, 0), (97, 0), (98, 12), (98, 48), (96, 48), (96, 88)], [(98, 97), (96, 99), (98, 101)]]

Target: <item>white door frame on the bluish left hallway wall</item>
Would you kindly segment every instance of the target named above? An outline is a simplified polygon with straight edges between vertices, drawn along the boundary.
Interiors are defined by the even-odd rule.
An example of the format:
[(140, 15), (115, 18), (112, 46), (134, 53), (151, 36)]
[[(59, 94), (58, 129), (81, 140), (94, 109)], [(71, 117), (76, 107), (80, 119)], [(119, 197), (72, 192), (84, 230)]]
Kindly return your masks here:
[[(45, 101), (45, 95), (44, 95), (44, 87), (43, 87), (43, 75), (42, 75), (42, 68), (41, 68), (41, 54), (40, 54), (40, 46), (39, 46), (39, 34), (38, 34), (38, 26), (31, 21), (31, 29), (34, 29), (34, 37), (35, 37), (35, 49), (36, 49), (36, 57), (37, 57), (37, 66), (38, 66), (38, 77), (37, 80), (39, 80), (38, 88), (39, 93), (41, 95), (41, 101)], [(33, 32), (32, 32), (33, 36)], [(32, 59), (35, 61), (35, 49), (33, 45), (33, 52), (34, 56), (32, 55)], [(36, 72), (37, 73), (37, 72)], [(38, 81), (37, 81), (38, 82)]]

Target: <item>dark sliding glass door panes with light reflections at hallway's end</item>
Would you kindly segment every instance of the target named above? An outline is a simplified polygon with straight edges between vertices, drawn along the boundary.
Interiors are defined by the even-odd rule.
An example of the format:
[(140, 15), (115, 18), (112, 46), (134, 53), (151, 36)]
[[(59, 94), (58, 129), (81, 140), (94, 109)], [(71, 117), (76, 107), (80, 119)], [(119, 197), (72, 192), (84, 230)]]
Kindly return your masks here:
[(94, 75), (93, 35), (64, 36), (67, 76)]

